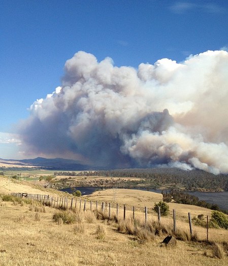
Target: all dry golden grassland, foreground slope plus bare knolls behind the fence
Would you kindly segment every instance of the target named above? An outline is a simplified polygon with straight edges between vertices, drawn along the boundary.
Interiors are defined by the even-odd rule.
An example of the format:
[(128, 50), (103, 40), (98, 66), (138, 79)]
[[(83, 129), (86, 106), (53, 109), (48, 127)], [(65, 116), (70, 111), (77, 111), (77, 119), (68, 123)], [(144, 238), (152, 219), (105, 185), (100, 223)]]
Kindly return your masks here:
[[(46, 192), (47, 194), (49, 192), (39, 191), (38, 188), (32, 185), (26, 186), (25, 182), (12, 182), (8, 185), (5, 182), (6, 179), (0, 177), (0, 193), (28, 192), (41, 194)], [(141, 194), (138, 190), (134, 191), (119, 189), (117, 191), (96, 191), (88, 198), (93, 201), (117, 201), (120, 206), (123, 204), (127, 204), (127, 206), (142, 204), (139, 207), (143, 207), (146, 204), (148, 208), (150, 207), (149, 204), (152, 207), (154, 202), (161, 200), (159, 194), (148, 191), (143, 191), (145, 193)], [(116, 198), (113, 198), (113, 195)], [(58, 194), (55, 196), (58, 196)], [(62, 219), (57, 220), (57, 222), (53, 220), (53, 215), (58, 214), (60, 210), (44, 207), (37, 202), (26, 204), (24, 201), (11, 202), (3, 199), (4, 196), (2, 195), (0, 197), (1, 266), (149, 266), (178, 264), (222, 266), (228, 264), (227, 245), (224, 246), (222, 258), (219, 259), (216, 257), (215, 246), (208, 245), (205, 242), (178, 240), (174, 247), (160, 245), (167, 233), (160, 232), (159, 235), (154, 235), (152, 239), (147, 239), (141, 243), (136, 235), (129, 235), (124, 230), (119, 229), (122, 221), (117, 224), (113, 220), (97, 220), (92, 212), (79, 212), (78, 210), (77, 212), (70, 212), (76, 217), (74, 222), (64, 224)], [(179, 211), (187, 213), (189, 211), (188, 207), (191, 206), (180, 206)], [(176, 206), (175, 208), (177, 209)], [(200, 213), (202, 211), (200, 210)], [(127, 215), (131, 215), (131, 212), (129, 211)], [(149, 217), (150, 219), (156, 219), (156, 216), (152, 213), (149, 213)], [(162, 218), (161, 220), (166, 226), (171, 221), (171, 217)], [(179, 220), (179, 218), (177, 222), (179, 226), (185, 225), (184, 221)], [(205, 230), (205, 228), (201, 229)], [(226, 234), (227, 236), (227, 230), (216, 230), (214, 241), (219, 240), (217, 234), (221, 236)]]

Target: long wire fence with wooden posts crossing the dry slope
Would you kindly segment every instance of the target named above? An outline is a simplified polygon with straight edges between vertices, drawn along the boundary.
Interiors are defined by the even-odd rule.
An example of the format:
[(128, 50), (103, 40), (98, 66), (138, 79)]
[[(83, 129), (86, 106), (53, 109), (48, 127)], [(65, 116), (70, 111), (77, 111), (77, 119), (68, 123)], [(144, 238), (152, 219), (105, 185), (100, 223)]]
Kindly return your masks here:
[[(111, 219), (114, 215), (117, 218), (122, 218), (123, 220), (131, 219), (140, 219), (143, 222), (148, 223), (150, 221), (157, 221), (158, 223), (166, 223), (173, 227), (173, 231), (176, 232), (178, 229), (189, 230), (191, 236), (195, 233), (200, 235), (202, 240), (206, 241), (227, 241), (228, 240), (228, 230), (225, 229), (216, 229), (210, 227), (211, 215), (207, 215), (204, 220), (205, 226), (196, 226), (193, 224), (191, 213), (188, 213), (188, 216), (185, 217), (182, 212), (172, 210), (172, 214), (169, 217), (163, 217), (160, 214), (160, 207), (158, 207), (157, 213), (154, 212), (152, 208), (141, 208), (135, 206), (127, 206), (125, 204), (121, 205), (118, 203), (108, 203), (108, 202), (99, 202), (99, 201), (88, 201), (82, 197), (54, 197), (43, 194), (28, 194), (28, 193), (12, 193), (16, 197), (25, 197), (32, 201), (37, 201), (42, 203), (45, 206), (60, 210), (72, 210), (77, 209), (78, 211), (94, 211), (100, 210), (106, 212), (108, 219)], [(177, 220), (177, 215), (185, 218), (183, 220)]]

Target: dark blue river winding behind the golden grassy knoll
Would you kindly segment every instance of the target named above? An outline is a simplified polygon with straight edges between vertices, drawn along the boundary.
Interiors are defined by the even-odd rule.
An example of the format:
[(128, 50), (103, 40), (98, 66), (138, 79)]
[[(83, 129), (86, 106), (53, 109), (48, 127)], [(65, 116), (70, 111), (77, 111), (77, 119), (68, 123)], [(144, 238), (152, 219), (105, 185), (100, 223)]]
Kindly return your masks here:
[[(60, 189), (61, 191), (66, 191), (69, 193), (73, 193), (74, 188), (64, 188)], [(82, 195), (92, 194), (96, 190), (102, 190), (102, 187), (76, 187), (75, 190), (80, 190)], [(146, 189), (146, 188), (136, 188), (139, 190), (148, 190), (155, 193), (161, 193), (159, 189)], [(220, 209), (228, 211), (228, 191), (222, 192), (187, 192), (190, 195), (197, 196), (200, 201), (205, 201), (211, 204), (217, 204)]]

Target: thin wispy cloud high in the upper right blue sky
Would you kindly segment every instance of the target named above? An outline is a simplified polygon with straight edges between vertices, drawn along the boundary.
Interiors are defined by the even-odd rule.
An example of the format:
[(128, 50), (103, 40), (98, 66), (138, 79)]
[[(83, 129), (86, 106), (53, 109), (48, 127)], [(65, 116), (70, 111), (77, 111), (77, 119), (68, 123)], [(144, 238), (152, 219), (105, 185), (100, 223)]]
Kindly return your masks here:
[(225, 11), (225, 9), (217, 4), (194, 4), (189, 2), (176, 2), (170, 6), (170, 10), (176, 14), (184, 14), (186, 12), (198, 9), (205, 13), (220, 14)]

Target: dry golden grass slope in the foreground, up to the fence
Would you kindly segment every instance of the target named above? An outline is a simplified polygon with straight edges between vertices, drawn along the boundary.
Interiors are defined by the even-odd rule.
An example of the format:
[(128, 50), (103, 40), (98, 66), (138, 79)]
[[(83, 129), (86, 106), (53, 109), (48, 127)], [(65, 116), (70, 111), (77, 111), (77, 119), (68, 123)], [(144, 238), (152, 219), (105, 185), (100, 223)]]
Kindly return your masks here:
[[(37, 207), (40, 208), (40, 206)], [(59, 212), (58, 210), (46, 207), (46, 212), (36, 212), (40, 215), (38, 222), (35, 221), (35, 207), (32, 211), (29, 211), (29, 208), (30, 205), (27, 204), (21, 206), (12, 205), (12, 202), (1, 201), (0, 203), (1, 266), (170, 266), (178, 264), (225, 266), (228, 264), (227, 243), (226, 246), (223, 243), (225, 255), (222, 259), (216, 259), (218, 256), (213, 255), (212, 246), (198, 242), (178, 241), (177, 246), (172, 249), (160, 247), (166, 232), (169, 232), (169, 228), (172, 230), (172, 217), (162, 217), (159, 225), (155, 222), (156, 216), (149, 212), (148, 222), (145, 225), (143, 216), (140, 217), (140, 215), (139, 220), (132, 222), (132, 214), (129, 212), (122, 234), (116, 230), (119, 225), (114, 222), (115, 219), (113, 218), (110, 222), (105, 218), (106, 214), (100, 213), (99, 215), (103, 217), (101, 220), (95, 219), (92, 223), (88, 223), (85, 218), (87, 212), (77, 211), (82, 222), (74, 218), (73, 224), (63, 223), (60, 218), (58, 221), (61, 221), (61, 225), (59, 225), (58, 221), (54, 222), (52, 219), (53, 215)], [(70, 213), (76, 217), (75, 211)], [(138, 212), (136, 215), (138, 218)], [(121, 217), (120, 212), (117, 220), (122, 220)], [(80, 232), (80, 226), (84, 226), (82, 232)], [(180, 230), (189, 231), (188, 223), (183, 220), (177, 220), (177, 227)], [(105, 230), (105, 237), (99, 237), (101, 228)], [(198, 227), (194, 229), (198, 231)], [(205, 239), (206, 230), (203, 227), (199, 227), (199, 231), (200, 229), (202, 230), (200, 238)], [(159, 231), (157, 235), (155, 235), (156, 230)], [(227, 242), (225, 234), (227, 230), (210, 229), (210, 241), (220, 238), (221, 241), (226, 239)], [(205, 256), (205, 250), (210, 251), (211, 256)]]

